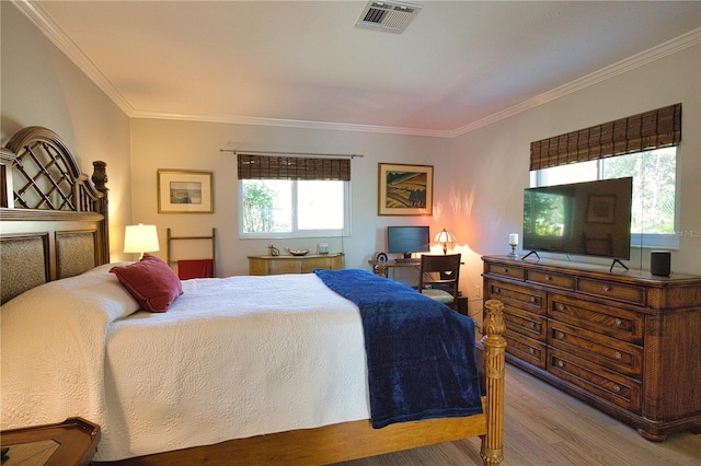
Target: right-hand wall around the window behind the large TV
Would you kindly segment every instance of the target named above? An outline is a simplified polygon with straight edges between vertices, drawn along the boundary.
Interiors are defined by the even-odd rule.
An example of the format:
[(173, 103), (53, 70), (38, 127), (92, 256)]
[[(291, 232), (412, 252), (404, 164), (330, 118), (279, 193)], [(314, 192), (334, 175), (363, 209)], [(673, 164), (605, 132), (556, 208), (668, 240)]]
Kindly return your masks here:
[[(455, 139), (458, 196), (474, 199), (457, 234), (467, 238), (462, 269), (474, 299), (481, 255), (504, 255), (519, 233), (529, 186), (530, 142), (670, 104), (682, 104), (677, 171), (680, 206), (677, 273), (701, 273), (701, 47), (694, 46)], [(556, 257), (556, 256), (555, 256)], [(562, 256), (560, 256), (562, 258)], [(583, 258), (574, 258), (584, 260)], [(604, 260), (607, 265), (610, 260)], [(650, 268), (650, 251), (633, 248), (631, 268)]]

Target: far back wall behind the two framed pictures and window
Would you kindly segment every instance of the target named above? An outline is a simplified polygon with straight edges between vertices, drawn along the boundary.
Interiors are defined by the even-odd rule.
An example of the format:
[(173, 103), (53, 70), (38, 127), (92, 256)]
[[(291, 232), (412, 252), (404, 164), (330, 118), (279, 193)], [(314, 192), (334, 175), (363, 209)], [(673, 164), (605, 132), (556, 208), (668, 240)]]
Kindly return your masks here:
[[(443, 138), (136, 118), (131, 121), (133, 220), (158, 225), (162, 258), (168, 228), (176, 236), (205, 235), (217, 228), (218, 275), (245, 275), (246, 256), (266, 254), (268, 244), (280, 251), (315, 249), (322, 238), (239, 240), (235, 155), (220, 149), (363, 154), (350, 163), (352, 234), (323, 241), (330, 243), (331, 252), (346, 254), (346, 267), (369, 269), (367, 260), (386, 249), (386, 225), (428, 224), (432, 234), (451, 228), (451, 217), (439, 213), (440, 209), (434, 218), (378, 217), (378, 163), (434, 165), (434, 197), (440, 205), (452, 183), (451, 148), (451, 141)], [(214, 172), (215, 213), (158, 213), (159, 168)]]

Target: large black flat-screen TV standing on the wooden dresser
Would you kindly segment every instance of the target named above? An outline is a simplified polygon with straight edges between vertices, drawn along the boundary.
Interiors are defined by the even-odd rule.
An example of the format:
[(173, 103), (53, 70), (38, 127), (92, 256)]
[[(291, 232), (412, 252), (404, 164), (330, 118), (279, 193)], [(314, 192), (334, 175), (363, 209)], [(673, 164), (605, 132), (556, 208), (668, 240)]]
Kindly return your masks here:
[(630, 259), (633, 178), (527, 188), (524, 251)]

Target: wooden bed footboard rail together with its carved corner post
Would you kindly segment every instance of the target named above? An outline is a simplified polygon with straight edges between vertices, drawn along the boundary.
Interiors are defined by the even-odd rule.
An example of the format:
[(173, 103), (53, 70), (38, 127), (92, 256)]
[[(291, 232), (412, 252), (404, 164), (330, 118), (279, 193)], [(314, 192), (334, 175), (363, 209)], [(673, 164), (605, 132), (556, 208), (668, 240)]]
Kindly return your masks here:
[(484, 413), (466, 418), (399, 422), (374, 429), (369, 419), (230, 440), (108, 463), (111, 466), (193, 466), (237, 464), (326, 465), (480, 436), (484, 465), (499, 465), (504, 456), (504, 305), (485, 303), (483, 364), (486, 396)]

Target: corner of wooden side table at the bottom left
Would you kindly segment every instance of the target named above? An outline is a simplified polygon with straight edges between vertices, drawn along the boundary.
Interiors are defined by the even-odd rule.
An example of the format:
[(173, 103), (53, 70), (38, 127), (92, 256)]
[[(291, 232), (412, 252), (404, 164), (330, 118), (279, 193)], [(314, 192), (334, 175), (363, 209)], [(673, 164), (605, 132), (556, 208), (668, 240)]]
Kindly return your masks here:
[(2, 466), (12, 465), (89, 465), (100, 442), (100, 426), (81, 418), (61, 423), (3, 430)]

